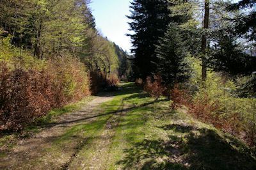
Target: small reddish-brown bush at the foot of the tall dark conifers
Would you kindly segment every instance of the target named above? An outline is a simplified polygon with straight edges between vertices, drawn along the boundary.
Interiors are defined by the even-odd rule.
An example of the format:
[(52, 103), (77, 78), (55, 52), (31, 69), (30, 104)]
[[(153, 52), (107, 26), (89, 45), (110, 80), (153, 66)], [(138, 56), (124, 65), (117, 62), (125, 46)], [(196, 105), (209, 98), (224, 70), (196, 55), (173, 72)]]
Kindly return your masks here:
[(161, 76), (154, 75), (153, 80), (150, 77), (147, 77), (144, 90), (147, 91), (151, 97), (159, 98), (161, 95), (163, 95), (163, 92), (166, 90), (166, 88), (162, 84)]

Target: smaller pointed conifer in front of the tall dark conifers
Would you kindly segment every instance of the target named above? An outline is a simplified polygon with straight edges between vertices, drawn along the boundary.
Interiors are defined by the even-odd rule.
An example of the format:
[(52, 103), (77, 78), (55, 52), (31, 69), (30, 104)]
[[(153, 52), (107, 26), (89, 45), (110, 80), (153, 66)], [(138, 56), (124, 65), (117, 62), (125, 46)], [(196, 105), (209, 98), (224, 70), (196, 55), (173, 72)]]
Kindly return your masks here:
[(165, 86), (173, 87), (176, 83), (186, 82), (189, 79), (190, 70), (179, 27), (170, 24), (168, 31), (159, 43), (157, 69)]

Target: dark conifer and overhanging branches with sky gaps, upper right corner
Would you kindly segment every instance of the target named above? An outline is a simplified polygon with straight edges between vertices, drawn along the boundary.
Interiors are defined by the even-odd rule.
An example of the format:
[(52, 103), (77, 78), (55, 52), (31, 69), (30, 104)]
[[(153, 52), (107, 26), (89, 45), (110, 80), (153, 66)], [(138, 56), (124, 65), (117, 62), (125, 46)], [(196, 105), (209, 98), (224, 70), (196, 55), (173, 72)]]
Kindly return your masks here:
[[(212, 31), (210, 66), (216, 71), (227, 72), (230, 75), (250, 75), (255, 71), (256, 58), (248, 47), (253, 46), (255, 38), (255, 10), (248, 10), (247, 15), (243, 9), (255, 6), (255, 1), (239, 1), (235, 4), (224, 4), (223, 10), (227, 16), (220, 19), (217, 28)], [(228, 6), (228, 8), (227, 8)], [(222, 8), (223, 8), (222, 7)], [(228, 10), (227, 10), (228, 9)], [(237, 11), (240, 9), (240, 12)], [(254, 11), (254, 12), (253, 12)], [(253, 22), (255, 20), (255, 22)]]

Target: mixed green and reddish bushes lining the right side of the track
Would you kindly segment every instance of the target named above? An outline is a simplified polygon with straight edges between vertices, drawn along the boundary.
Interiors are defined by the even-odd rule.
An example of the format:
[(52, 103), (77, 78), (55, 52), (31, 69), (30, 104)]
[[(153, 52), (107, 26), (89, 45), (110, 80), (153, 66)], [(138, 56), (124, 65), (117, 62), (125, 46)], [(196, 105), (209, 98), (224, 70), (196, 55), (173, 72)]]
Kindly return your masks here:
[(191, 86), (184, 90), (176, 85), (171, 90), (172, 109), (185, 105), (196, 119), (256, 146), (256, 99), (237, 97), (235, 82), (223, 73), (208, 72), (207, 81), (201, 86), (197, 81), (201, 76), (200, 64), (195, 60), (193, 65)]

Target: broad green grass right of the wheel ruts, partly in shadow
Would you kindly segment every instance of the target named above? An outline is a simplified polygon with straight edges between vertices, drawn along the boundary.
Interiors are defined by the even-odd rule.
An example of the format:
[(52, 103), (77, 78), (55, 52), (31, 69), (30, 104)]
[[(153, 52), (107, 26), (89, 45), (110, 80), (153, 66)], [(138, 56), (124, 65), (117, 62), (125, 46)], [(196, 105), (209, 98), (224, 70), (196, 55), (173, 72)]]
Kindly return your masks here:
[[(116, 111), (122, 100), (127, 107), (112, 129), (102, 169), (255, 169), (250, 149), (232, 135), (184, 111), (170, 111), (169, 101), (156, 101), (133, 84), (125, 85), (124, 91), (102, 105), (106, 112)], [(98, 151), (92, 141), (79, 157), (86, 162)]]

